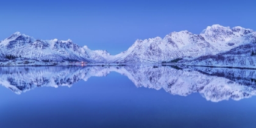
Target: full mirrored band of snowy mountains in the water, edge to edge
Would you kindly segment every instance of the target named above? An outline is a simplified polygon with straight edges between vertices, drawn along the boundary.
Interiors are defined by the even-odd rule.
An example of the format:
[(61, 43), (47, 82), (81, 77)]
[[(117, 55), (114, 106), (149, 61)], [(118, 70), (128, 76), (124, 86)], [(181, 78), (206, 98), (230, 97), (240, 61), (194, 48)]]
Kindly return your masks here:
[(256, 73), (250, 69), (207, 68), (199, 66), (42, 66), (0, 67), (0, 84), (16, 94), (37, 87), (71, 87), (92, 76), (110, 72), (127, 76), (136, 87), (163, 88), (170, 94), (188, 96), (200, 93), (207, 101), (219, 102), (251, 98), (256, 94)]

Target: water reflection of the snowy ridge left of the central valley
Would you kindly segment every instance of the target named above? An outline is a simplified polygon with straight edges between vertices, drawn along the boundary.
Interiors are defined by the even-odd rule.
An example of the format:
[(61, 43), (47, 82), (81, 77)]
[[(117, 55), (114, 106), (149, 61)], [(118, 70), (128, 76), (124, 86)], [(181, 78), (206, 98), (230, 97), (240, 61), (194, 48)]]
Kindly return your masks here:
[(35, 87), (71, 87), (79, 80), (91, 76), (106, 76), (109, 72), (103, 67), (45, 66), (45, 67), (1, 67), (0, 84), (17, 94)]

